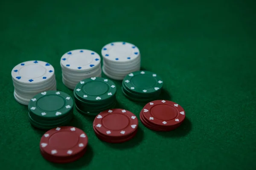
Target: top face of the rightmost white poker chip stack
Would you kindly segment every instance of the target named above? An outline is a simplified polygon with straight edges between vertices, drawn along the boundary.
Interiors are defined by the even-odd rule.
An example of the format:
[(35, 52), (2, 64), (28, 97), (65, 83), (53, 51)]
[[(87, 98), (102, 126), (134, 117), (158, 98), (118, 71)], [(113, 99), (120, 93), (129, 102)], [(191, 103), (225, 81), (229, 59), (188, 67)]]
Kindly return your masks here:
[(139, 49), (128, 42), (112, 42), (102, 48), (102, 57), (115, 62), (129, 62), (139, 56)]

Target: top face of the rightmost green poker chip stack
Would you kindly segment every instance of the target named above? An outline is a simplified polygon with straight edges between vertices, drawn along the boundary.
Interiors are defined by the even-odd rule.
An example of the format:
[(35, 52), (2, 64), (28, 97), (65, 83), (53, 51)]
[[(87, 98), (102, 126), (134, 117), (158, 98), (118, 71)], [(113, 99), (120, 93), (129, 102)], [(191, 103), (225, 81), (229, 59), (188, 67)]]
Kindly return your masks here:
[(163, 80), (150, 71), (135, 71), (124, 78), (125, 86), (131, 91), (146, 94), (163, 88)]

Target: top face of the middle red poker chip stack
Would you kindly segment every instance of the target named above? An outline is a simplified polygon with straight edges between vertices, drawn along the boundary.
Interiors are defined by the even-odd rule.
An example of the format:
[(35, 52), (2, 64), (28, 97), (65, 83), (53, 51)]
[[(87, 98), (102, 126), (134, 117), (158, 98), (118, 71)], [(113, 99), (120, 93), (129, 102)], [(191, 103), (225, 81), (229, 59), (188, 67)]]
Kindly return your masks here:
[(93, 126), (99, 133), (107, 136), (126, 136), (138, 127), (137, 117), (124, 109), (111, 109), (99, 113)]

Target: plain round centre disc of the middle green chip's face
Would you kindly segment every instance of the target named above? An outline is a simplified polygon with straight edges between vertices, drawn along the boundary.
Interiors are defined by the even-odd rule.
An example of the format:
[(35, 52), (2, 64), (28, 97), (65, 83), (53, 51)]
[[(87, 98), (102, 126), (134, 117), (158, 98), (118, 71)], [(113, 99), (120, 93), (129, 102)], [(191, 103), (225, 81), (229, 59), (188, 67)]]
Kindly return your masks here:
[(87, 82), (83, 86), (83, 91), (91, 96), (99, 96), (108, 92), (108, 85), (100, 81)]

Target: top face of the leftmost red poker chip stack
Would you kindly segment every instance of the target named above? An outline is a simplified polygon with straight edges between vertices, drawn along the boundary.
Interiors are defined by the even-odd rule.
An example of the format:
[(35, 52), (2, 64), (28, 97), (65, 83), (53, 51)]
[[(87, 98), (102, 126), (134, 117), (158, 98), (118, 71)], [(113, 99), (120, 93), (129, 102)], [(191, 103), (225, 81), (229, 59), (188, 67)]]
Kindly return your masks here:
[(44, 133), (41, 137), (40, 147), (44, 152), (53, 156), (72, 156), (87, 146), (88, 138), (83, 130), (62, 126)]

